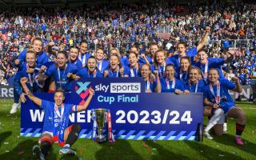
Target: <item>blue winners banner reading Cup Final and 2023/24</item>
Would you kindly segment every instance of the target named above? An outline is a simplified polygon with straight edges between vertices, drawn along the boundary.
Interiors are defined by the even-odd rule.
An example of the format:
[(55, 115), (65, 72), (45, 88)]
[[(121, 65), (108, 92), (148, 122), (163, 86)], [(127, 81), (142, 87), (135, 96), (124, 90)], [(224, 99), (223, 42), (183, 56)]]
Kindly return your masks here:
[[(66, 103), (83, 104), (89, 88), (95, 90), (87, 110), (70, 114), (70, 124), (82, 126), (79, 138), (92, 138), (93, 109), (110, 110), (114, 138), (134, 140), (196, 140), (202, 126), (202, 94), (146, 94), (141, 78), (90, 78), (74, 82)], [(35, 94), (53, 101), (54, 94)], [(28, 100), (22, 103), (21, 135), (38, 137), (43, 110)], [(107, 128), (103, 134), (107, 134)]]

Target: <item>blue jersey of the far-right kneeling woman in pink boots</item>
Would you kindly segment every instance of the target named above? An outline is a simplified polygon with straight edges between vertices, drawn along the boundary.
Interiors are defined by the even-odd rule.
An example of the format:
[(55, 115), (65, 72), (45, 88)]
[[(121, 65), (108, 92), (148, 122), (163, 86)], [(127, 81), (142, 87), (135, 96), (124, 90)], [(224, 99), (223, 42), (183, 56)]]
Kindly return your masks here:
[[(234, 85), (234, 82), (230, 82), (227, 79), (219, 79), (218, 81), (220, 82), (220, 106), (226, 113), (230, 108), (235, 106), (234, 101), (229, 94), (229, 90), (234, 90), (236, 86)], [(217, 97), (217, 85), (213, 86), (213, 90), (214, 95), (210, 91), (210, 84), (207, 84), (203, 89), (203, 98), (207, 98), (208, 101), (216, 103), (215, 98)]]

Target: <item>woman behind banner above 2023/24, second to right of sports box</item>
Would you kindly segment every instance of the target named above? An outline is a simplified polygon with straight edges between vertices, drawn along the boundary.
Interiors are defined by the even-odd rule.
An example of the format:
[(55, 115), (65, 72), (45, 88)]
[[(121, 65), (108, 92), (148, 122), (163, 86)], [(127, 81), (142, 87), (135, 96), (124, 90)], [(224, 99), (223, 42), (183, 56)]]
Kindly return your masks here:
[(172, 64), (166, 65), (166, 76), (160, 79), (162, 92), (182, 94), (184, 84), (174, 77), (175, 67)]

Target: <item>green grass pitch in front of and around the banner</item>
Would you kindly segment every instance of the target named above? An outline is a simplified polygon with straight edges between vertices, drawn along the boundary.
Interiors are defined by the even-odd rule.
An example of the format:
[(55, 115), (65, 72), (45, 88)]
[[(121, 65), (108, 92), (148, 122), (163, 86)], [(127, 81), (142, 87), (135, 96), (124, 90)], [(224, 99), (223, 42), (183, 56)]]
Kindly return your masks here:
[[(0, 100), (0, 160), (32, 159), (32, 146), (38, 138), (19, 136), (20, 110), (10, 115), (13, 100)], [(247, 124), (242, 134), (244, 146), (234, 142), (235, 122), (229, 119), (228, 134), (214, 136), (214, 140), (203, 142), (188, 141), (134, 141), (117, 140), (98, 144), (90, 139), (78, 139), (72, 148), (76, 156), (58, 154), (59, 146), (54, 145), (46, 159), (256, 159), (256, 106), (238, 103), (246, 111)], [(205, 123), (206, 123), (205, 118)]]

